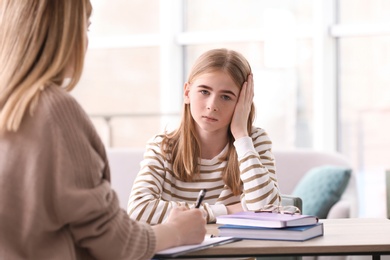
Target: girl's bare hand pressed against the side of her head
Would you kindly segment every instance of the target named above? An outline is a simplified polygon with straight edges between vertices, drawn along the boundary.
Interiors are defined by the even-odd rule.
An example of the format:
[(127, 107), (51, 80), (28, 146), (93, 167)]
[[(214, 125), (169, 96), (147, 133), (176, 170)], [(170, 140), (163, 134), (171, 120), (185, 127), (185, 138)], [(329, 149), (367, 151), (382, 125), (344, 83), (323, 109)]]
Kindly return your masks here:
[(248, 117), (251, 111), (254, 97), (254, 83), (253, 74), (249, 74), (247, 81), (242, 85), (240, 96), (233, 113), (232, 122), (230, 123), (230, 130), (237, 140), (240, 137), (248, 136)]

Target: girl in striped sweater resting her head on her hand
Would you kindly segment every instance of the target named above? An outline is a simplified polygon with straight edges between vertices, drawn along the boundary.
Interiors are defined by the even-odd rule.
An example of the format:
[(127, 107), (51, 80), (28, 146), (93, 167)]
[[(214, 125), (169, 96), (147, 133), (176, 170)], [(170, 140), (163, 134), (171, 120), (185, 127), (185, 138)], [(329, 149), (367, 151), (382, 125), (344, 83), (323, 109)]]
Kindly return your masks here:
[(178, 129), (155, 136), (146, 147), (134, 182), (129, 215), (156, 224), (177, 206), (201, 208), (216, 216), (279, 204), (272, 143), (253, 126), (254, 84), (248, 61), (238, 52), (201, 55), (184, 85)]

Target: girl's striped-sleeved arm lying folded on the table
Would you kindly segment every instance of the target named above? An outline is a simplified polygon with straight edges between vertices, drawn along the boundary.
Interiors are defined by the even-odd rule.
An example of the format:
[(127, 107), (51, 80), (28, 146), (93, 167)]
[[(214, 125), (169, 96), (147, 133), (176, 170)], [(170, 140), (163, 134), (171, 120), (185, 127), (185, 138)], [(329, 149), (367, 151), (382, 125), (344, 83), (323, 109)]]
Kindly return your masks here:
[[(127, 213), (132, 219), (150, 224), (163, 223), (174, 208), (194, 208), (199, 190), (213, 185), (193, 182), (190, 187), (177, 187), (176, 182), (179, 181), (173, 176), (170, 162), (161, 153), (160, 141), (156, 137), (148, 143), (127, 207)], [(214, 212), (227, 213), (223, 204), (203, 203), (200, 209), (204, 210), (208, 221), (214, 219)]]

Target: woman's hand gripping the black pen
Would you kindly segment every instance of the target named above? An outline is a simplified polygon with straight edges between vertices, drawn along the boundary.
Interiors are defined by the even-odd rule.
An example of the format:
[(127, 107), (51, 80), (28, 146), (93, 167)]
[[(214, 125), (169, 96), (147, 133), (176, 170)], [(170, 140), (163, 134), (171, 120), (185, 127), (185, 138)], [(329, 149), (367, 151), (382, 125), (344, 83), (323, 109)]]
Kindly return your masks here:
[(206, 218), (200, 209), (173, 208), (163, 224), (153, 226), (156, 252), (180, 245), (198, 244), (206, 235)]

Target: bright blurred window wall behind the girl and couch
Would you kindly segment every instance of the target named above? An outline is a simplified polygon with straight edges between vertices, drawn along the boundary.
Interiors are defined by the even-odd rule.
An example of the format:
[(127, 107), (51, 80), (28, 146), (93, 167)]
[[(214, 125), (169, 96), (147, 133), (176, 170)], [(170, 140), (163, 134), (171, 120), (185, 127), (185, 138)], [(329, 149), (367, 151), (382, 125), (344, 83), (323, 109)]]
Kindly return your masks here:
[(144, 147), (175, 128), (195, 59), (230, 48), (251, 63), (256, 125), (274, 149), (344, 154), (358, 178), (359, 216), (386, 216), (389, 0), (91, 2), (84, 74), (72, 95), (107, 147)]

